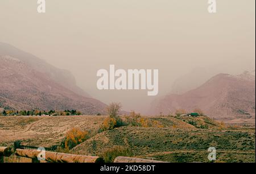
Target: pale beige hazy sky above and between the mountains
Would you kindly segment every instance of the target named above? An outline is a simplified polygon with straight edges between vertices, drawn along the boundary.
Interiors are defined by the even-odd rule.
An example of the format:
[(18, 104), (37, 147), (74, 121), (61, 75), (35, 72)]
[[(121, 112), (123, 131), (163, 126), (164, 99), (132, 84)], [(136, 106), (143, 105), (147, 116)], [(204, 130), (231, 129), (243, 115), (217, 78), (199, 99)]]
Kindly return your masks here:
[(255, 0), (36, 0), (0, 1), (0, 41), (68, 69), (94, 98), (143, 111), (147, 91), (99, 91), (96, 72), (159, 69), (159, 96), (203, 67), (214, 73), (255, 69)]

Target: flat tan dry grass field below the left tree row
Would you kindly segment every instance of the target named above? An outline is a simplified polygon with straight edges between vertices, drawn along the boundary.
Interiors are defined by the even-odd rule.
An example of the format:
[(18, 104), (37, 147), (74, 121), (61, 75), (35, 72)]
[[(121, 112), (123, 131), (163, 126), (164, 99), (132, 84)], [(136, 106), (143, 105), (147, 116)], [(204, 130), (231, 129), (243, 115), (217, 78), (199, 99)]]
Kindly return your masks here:
[(105, 116), (0, 117), (0, 146), (22, 140), (30, 146), (57, 145), (72, 127), (97, 130)]

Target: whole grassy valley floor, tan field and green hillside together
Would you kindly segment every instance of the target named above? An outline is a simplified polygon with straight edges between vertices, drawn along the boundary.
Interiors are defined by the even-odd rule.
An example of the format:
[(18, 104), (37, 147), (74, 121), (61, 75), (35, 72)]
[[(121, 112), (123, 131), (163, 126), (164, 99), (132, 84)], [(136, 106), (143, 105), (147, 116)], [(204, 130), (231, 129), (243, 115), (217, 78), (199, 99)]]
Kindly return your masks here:
[[(138, 158), (169, 162), (209, 162), (208, 148), (215, 147), (217, 162), (255, 162), (255, 126), (220, 127), (207, 118), (151, 117), (163, 127), (123, 126), (98, 132), (106, 116), (0, 117), (0, 146), (51, 147), (60, 145), (73, 127), (95, 132), (69, 151), (73, 154), (102, 155), (113, 146), (130, 147)], [(191, 118), (189, 118), (191, 119)], [(195, 122), (208, 124), (200, 129)], [(205, 126), (204, 126), (205, 127)]]

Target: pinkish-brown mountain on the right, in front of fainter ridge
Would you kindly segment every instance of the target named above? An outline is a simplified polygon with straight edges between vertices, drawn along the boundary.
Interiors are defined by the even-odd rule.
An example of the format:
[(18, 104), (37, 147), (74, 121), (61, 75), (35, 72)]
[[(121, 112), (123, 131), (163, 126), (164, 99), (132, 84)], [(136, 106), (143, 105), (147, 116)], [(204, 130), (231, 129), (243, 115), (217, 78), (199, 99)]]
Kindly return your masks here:
[(196, 89), (158, 98), (152, 102), (149, 114), (198, 108), (213, 118), (255, 118), (255, 71), (238, 76), (217, 74)]

